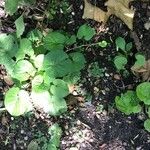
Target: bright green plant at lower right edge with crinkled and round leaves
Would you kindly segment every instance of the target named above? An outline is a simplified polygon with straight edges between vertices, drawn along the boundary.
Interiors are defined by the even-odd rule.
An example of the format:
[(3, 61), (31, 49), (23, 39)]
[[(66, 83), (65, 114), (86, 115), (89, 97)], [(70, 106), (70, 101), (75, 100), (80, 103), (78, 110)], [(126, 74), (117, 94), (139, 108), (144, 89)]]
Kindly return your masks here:
[[(150, 117), (150, 82), (143, 82), (136, 87), (136, 91), (127, 91), (121, 94), (121, 97), (116, 96), (115, 103), (118, 110), (130, 115), (142, 111), (142, 103), (146, 109), (148, 117)], [(144, 122), (145, 129), (150, 132), (150, 119)]]

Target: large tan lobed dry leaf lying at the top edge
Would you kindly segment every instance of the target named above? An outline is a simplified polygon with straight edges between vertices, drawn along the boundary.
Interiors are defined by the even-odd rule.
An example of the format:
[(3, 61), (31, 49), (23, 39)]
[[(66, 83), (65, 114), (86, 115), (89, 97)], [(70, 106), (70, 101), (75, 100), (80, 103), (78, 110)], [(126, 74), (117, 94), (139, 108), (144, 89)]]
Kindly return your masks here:
[[(106, 22), (110, 15), (115, 15), (120, 18), (129, 29), (133, 29), (133, 17), (134, 10), (129, 9), (129, 2), (133, 0), (108, 0), (105, 3), (107, 6), (107, 12), (101, 10), (100, 8), (93, 6), (87, 0), (84, 0), (84, 14), (83, 19), (93, 19), (98, 22)], [(143, 0), (148, 1), (148, 0)]]

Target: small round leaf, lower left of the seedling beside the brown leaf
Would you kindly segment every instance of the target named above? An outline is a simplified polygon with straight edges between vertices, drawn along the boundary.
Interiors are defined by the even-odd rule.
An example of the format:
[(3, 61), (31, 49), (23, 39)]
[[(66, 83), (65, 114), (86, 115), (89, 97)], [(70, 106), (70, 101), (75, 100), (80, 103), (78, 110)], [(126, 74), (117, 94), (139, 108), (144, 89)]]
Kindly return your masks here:
[(124, 70), (124, 67), (127, 64), (127, 59), (122, 55), (116, 56), (114, 59), (114, 64), (119, 71)]

